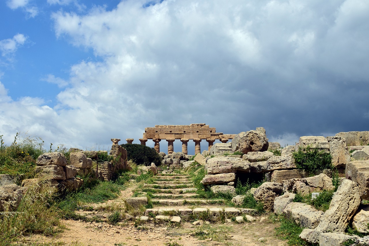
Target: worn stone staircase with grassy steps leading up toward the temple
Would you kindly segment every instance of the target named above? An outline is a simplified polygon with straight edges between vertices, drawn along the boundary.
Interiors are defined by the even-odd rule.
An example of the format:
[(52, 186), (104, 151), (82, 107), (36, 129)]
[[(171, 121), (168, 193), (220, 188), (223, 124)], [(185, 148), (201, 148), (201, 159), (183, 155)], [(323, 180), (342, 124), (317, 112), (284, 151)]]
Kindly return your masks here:
[[(230, 222), (253, 220), (255, 209), (227, 207), (223, 199), (201, 199), (187, 174), (158, 174), (153, 184), (144, 184), (151, 192), (153, 208), (146, 209), (141, 220)], [(248, 216), (248, 218), (246, 218)], [(194, 222), (194, 223), (195, 223)], [(197, 223), (197, 222), (196, 222)]]

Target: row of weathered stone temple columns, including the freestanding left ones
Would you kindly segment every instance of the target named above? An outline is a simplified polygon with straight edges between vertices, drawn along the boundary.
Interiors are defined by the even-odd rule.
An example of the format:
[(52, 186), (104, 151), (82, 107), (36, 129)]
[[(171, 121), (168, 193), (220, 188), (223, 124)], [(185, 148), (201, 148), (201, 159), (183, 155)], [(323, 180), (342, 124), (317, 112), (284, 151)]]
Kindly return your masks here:
[[(227, 143), (229, 139), (221, 139), (220, 141), (222, 143)], [(133, 142), (133, 139), (126, 139), (127, 143), (131, 144)], [(147, 139), (139, 139), (139, 141), (141, 142), (141, 145), (146, 145)], [(154, 141), (154, 149), (156, 150), (156, 152), (160, 152), (160, 144), (159, 142), (161, 141), (161, 139), (152, 139), (152, 141)], [(175, 141), (175, 139), (166, 139), (166, 141), (168, 142), (168, 154), (172, 154), (174, 151), (174, 147), (173, 147), (173, 142)], [(189, 139), (181, 139), (182, 142), (182, 153), (187, 155), (188, 151), (187, 151), (187, 143), (188, 143)], [(200, 142), (201, 139), (194, 139), (193, 140), (195, 142), (195, 155), (201, 153), (201, 149), (200, 149)], [(213, 143), (215, 141), (215, 139), (207, 139), (206, 140), (209, 143), (209, 151), (210, 148), (213, 147)]]

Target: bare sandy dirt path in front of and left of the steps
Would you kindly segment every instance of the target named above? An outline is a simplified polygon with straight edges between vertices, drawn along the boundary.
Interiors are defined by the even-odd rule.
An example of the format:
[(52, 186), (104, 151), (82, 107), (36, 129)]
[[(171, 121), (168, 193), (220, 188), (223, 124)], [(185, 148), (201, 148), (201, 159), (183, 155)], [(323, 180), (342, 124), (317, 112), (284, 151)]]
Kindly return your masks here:
[[(89, 204), (89, 206), (99, 207), (108, 204), (123, 202), (125, 198), (131, 197), (136, 184), (130, 182), (128, 187), (121, 191), (117, 199), (107, 201), (103, 204)], [(276, 223), (271, 223), (268, 219), (259, 222), (245, 223), (211, 223), (207, 225), (209, 229), (215, 233), (218, 229), (220, 237), (228, 235), (224, 242), (217, 242), (207, 237), (206, 240), (200, 240), (196, 237), (195, 231), (201, 232), (199, 226), (192, 223), (183, 222), (180, 227), (167, 228), (167, 224), (145, 223), (142, 229), (135, 227), (134, 222), (124, 223), (122, 225), (113, 226), (107, 223), (83, 222), (73, 220), (63, 220), (62, 225), (66, 226), (66, 230), (54, 238), (33, 236), (24, 238), (23, 242), (39, 242), (52, 243), (52, 245), (66, 246), (284, 246), (285, 241), (276, 238), (274, 228)], [(224, 230), (224, 228), (226, 228)], [(202, 232), (201, 232), (202, 233)]]

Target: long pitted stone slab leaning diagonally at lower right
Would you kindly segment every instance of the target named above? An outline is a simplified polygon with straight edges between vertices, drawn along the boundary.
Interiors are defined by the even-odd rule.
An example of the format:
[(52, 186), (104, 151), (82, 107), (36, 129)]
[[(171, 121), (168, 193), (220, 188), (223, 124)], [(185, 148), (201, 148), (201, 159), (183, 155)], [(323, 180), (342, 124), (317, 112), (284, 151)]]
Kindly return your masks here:
[(358, 191), (358, 184), (354, 181), (343, 180), (316, 229), (323, 232), (344, 232), (361, 203)]

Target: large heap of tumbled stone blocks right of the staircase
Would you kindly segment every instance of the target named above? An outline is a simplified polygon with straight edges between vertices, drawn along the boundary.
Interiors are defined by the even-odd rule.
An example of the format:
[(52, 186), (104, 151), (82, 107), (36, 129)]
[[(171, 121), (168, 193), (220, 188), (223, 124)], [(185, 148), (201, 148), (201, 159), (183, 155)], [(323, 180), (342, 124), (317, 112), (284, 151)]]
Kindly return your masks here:
[[(249, 192), (256, 201), (263, 202), (267, 211), (284, 214), (306, 228), (300, 238), (309, 243), (342, 245), (352, 239), (355, 245), (369, 245), (369, 237), (344, 234), (349, 223), (359, 232), (369, 233), (369, 205), (361, 204), (362, 199), (369, 199), (368, 144), (369, 131), (337, 133), (329, 137), (303, 136), (295, 146), (279, 149), (281, 156), (274, 156), (266, 150), (280, 146), (268, 143), (265, 130), (259, 127), (237, 134), (232, 143), (214, 144), (209, 151), (214, 157), (197, 154), (196, 160), (204, 165), (206, 171), (201, 183), (211, 187), (214, 193), (235, 194), (238, 180), (266, 180)], [(311, 177), (311, 173), (297, 169), (292, 153), (307, 146), (330, 153), (332, 165), (338, 170), (340, 185), (325, 212), (292, 202), (296, 193), (305, 195), (334, 189), (331, 170), (321, 170), (321, 173), (317, 170)], [(234, 151), (241, 151), (242, 157), (232, 155)], [(224, 153), (228, 155), (224, 156)], [(242, 195), (232, 199), (235, 204), (242, 204), (242, 201)]]

